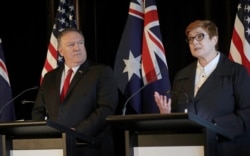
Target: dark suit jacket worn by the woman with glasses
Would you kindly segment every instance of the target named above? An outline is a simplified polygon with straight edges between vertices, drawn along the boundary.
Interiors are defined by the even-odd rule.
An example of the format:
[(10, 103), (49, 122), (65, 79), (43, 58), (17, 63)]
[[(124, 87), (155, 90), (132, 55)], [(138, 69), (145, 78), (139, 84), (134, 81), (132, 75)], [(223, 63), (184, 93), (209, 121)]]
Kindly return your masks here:
[(173, 91), (179, 93), (179, 99), (173, 98), (173, 111), (183, 112), (187, 107), (189, 113), (216, 123), (235, 138), (225, 140), (211, 132), (211, 156), (249, 156), (250, 77), (247, 70), (221, 53), (216, 69), (194, 97), (196, 64), (176, 74)]

